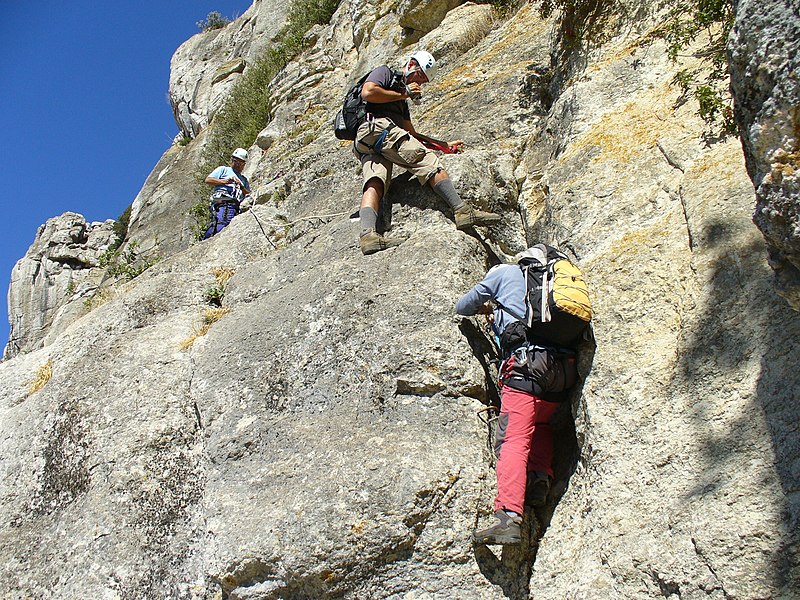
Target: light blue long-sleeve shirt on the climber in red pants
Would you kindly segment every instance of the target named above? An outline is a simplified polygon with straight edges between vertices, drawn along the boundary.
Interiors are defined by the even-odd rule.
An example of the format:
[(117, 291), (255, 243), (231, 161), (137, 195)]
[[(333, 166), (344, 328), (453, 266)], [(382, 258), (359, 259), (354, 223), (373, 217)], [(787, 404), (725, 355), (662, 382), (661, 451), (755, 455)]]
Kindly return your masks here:
[[(525, 277), (519, 266), (497, 265), (489, 269), (475, 287), (459, 298), (456, 312), (464, 316), (475, 315), (482, 305), (494, 300), (498, 304), (494, 309), (494, 323), (500, 335), (508, 325), (525, 318), (526, 291)], [(508, 311), (500, 308), (500, 305)]]

